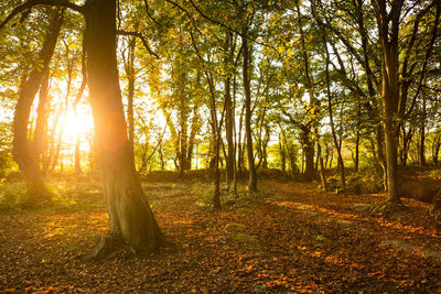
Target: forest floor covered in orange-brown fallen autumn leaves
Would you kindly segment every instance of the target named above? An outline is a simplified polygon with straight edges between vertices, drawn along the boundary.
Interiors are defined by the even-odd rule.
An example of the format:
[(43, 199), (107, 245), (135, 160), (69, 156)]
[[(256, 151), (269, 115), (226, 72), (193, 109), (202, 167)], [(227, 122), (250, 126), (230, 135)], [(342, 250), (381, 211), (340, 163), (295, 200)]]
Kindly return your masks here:
[(211, 183), (144, 188), (175, 246), (148, 257), (85, 257), (108, 227), (98, 185), (64, 182), (63, 205), (0, 213), (0, 293), (441, 292), (441, 230), (429, 205), (405, 199), (387, 218), (384, 195), (321, 193), (259, 182), (212, 211)]

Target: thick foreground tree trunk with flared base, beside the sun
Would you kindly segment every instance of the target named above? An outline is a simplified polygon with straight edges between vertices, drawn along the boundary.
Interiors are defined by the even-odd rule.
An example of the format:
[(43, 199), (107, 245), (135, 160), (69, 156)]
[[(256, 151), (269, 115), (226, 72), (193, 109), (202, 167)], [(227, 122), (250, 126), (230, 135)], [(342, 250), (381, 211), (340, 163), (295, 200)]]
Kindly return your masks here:
[(163, 236), (137, 177), (127, 138), (116, 57), (116, 1), (87, 0), (85, 8), (88, 87), (110, 220), (109, 236), (92, 257), (106, 253), (116, 239), (136, 252), (150, 252)]

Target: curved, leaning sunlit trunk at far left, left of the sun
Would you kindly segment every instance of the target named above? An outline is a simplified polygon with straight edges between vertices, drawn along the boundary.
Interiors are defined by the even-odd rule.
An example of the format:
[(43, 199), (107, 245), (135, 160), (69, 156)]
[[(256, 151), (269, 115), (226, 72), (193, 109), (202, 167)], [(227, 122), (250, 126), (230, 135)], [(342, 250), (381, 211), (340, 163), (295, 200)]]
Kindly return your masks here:
[(28, 139), (28, 124), (32, 104), (42, 83), (44, 73), (49, 68), (62, 23), (63, 12), (62, 10), (56, 10), (51, 20), (51, 30), (47, 32), (43, 47), (39, 53), (39, 59), (42, 62), (43, 70), (32, 70), (28, 79), (22, 83), (13, 118), (12, 128), (14, 138), (12, 153), (28, 185), (28, 194), (23, 204), (30, 206), (49, 199), (49, 193), (44, 187), (43, 176), (39, 165), (39, 153), (35, 152), (35, 146)]

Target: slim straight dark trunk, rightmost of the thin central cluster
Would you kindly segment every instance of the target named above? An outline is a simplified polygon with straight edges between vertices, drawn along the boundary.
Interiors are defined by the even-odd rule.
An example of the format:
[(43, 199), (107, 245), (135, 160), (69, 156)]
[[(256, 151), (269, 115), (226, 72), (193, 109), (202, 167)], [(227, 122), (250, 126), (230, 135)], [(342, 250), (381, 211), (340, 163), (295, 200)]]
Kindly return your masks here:
[(252, 130), (251, 130), (251, 86), (249, 81), (249, 48), (248, 48), (248, 26), (243, 25), (241, 29), (241, 42), (243, 42), (243, 75), (244, 75), (244, 89), (245, 89), (245, 135), (247, 139), (247, 157), (248, 157), (248, 189), (251, 192), (257, 190), (257, 175), (255, 166), (255, 156), (252, 153)]

